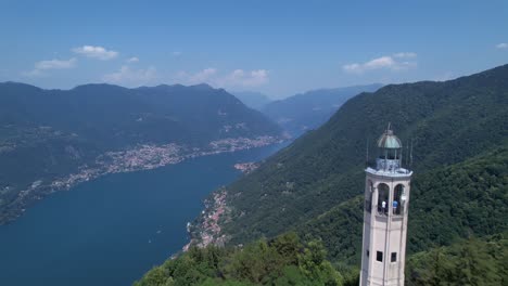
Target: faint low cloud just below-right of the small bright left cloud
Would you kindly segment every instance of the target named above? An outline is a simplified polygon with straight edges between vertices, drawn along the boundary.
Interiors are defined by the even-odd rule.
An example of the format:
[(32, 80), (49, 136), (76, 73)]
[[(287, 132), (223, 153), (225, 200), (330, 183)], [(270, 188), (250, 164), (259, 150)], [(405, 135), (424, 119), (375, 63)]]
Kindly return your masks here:
[(102, 77), (105, 82), (122, 83), (129, 87), (148, 84), (157, 79), (157, 70), (150, 66), (145, 69), (131, 69), (124, 65), (118, 72), (106, 74)]

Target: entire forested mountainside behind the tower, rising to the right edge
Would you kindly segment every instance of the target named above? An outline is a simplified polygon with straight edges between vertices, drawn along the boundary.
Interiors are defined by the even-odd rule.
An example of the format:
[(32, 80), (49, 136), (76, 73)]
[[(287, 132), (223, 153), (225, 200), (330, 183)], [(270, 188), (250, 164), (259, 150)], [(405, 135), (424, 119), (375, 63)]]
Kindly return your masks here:
[[(217, 191), (218, 232), (194, 243), (245, 244), (296, 231), (321, 239), (333, 261), (357, 264), (366, 143), (392, 122), (415, 171), (408, 252), (507, 231), (508, 65), (444, 82), (390, 84), (348, 100), (322, 127)], [(405, 153), (407, 153), (407, 148)], [(206, 238), (206, 240), (203, 240)]]

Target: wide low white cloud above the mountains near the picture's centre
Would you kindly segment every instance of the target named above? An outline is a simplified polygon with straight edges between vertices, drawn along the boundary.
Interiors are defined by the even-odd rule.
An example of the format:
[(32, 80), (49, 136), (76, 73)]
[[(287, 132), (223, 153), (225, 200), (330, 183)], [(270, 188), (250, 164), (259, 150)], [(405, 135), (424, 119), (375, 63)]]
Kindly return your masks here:
[(245, 72), (234, 69), (228, 74), (219, 74), (216, 68), (205, 68), (195, 74), (178, 73), (176, 80), (186, 84), (206, 82), (217, 88), (246, 88), (258, 87), (268, 83), (269, 76), (266, 69)]

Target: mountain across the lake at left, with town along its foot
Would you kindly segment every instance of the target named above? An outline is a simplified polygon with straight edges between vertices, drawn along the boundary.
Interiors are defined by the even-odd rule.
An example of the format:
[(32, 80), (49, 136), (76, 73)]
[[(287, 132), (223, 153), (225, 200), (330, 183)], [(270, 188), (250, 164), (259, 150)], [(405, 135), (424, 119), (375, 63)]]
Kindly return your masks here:
[(280, 132), (206, 84), (43, 90), (0, 83), (0, 223), (46, 194), (107, 172), (269, 144)]

